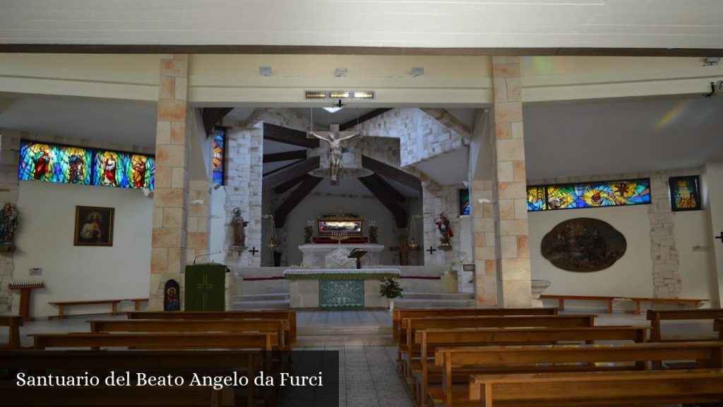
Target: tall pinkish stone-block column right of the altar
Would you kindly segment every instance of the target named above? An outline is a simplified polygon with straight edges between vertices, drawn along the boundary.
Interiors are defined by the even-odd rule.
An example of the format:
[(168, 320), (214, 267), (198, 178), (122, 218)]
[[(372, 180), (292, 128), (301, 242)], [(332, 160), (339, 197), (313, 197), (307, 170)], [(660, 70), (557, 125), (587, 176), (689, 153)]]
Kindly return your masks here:
[(492, 201), (497, 306), (529, 307), (532, 294), (519, 57), (492, 57), (492, 81), (495, 94)]

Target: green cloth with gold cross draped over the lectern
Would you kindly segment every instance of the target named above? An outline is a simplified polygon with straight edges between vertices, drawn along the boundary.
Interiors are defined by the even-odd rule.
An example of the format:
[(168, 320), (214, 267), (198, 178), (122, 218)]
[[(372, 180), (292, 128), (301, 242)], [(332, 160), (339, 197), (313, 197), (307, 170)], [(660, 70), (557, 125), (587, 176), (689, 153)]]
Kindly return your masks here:
[(186, 266), (186, 311), (226, 310), (226, 267), (223, 264)]

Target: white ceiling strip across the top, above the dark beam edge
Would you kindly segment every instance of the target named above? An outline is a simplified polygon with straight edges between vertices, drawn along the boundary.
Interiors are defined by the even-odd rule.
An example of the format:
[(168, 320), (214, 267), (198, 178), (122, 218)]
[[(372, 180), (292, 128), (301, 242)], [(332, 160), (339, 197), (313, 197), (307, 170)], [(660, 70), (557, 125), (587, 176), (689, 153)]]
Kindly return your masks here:
[(720, 0), (0, 0), (0, 43), (710, 48)]

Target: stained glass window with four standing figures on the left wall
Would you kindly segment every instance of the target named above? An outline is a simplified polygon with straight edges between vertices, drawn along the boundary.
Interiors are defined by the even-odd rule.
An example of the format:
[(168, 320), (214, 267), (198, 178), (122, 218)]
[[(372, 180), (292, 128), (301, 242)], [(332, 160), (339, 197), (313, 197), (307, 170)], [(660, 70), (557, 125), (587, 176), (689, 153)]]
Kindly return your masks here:
[(20, 180), (153, 189), (154, 173), (153, 156), (20, 142)]

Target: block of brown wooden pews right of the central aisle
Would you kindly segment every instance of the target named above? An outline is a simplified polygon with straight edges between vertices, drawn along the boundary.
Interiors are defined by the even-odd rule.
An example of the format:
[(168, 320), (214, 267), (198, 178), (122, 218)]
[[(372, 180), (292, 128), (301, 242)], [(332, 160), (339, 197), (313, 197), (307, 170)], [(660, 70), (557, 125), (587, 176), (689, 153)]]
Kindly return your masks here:
[[(645, 406), (662, 400), (722, 401), (723, 342), (708, 338), (649, 343), (649, 327), (595, 327), (593, 315), (560, 316), (557, 309), (542, 310), (396, 310), (399, 370), (416, 405)], [(684, 311), (703, 312), (671, 313), (671, 318), (663, 312), (655, 318), (723, 317), (711, 310)], [(692, 361), (686, 365), (692, 369), (669, 372), (663, 363), (668, 361)], [(676, 382), (681, 385), (672, 385)], [(650, 390), (659, 387), (664, 389)], [(600, 389), (607, 390), (600, 395)]]

